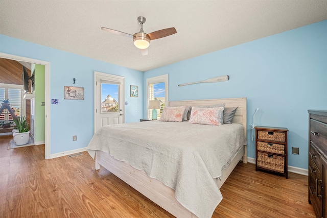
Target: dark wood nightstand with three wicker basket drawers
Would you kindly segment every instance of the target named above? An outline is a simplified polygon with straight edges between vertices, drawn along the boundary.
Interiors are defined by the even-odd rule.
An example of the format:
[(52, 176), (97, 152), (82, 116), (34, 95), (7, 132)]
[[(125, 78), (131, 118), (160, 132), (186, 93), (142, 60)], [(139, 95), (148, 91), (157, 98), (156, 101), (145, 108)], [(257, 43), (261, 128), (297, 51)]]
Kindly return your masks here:
[(287, 128), (255, 128), (255, 171), (285, 175), (287, 179)]

